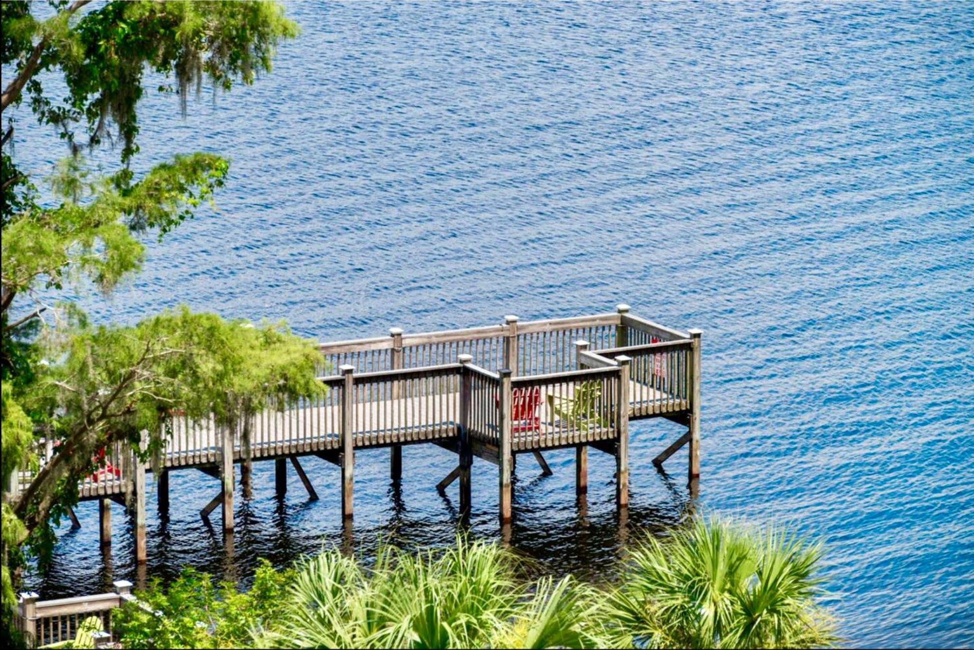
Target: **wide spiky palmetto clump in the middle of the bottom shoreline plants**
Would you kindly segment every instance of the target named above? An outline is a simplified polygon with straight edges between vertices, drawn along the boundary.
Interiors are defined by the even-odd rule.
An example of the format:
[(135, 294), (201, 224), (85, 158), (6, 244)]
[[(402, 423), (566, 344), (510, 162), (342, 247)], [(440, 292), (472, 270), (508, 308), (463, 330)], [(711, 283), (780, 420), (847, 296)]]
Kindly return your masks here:
[(365, 571), (326, 551), (306, 560), (278, 632), (258, 646), (324, 648), (603, 647), (595, 591), (572, 578), (525, 584), (494, 544), (458, 538), (440, 554), (391, 547)]

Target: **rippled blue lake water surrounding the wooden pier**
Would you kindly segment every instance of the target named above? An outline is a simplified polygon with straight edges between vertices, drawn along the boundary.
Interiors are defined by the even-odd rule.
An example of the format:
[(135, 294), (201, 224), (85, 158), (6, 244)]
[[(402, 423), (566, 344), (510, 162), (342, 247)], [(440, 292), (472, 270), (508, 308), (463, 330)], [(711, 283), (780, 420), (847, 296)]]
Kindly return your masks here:
[[(286, 318), (318, 339), (611, 310), (704, 330), (700, 507), (824, 537), (850, 645), (974, 643), (974, 4), (288, 5), (303, 33), (252, 89), (140, 107), (136, 166), (229, 155), (206, 211), (98, 320), (185, 303)], [(53, 162), (46, 129), (18, 155)], [(108, 164), (114, 154), (95, 158)], [(110, 168), (110, 167), (109, 167)], [(680, 435), (632, 426), (632, 504), (593, 454), (585, 517), (570, 451), (518, 464), (511, 545), (557, 572), (611, 577), (626, 535), (678, 522)], [(353, 544), (448, 543), (446, 451), (360, 454)], [(258, 463), (232, 560), (174, 474), (149, 523), (150, 575), (246, 576), (340, 544), (339, 474), (306, 463), (273, 493)], [(474, 466), (475, 534), (497, 537), (496, 473)], [(151, 498), (151, 497), (150, 497)], [(66, 529), (42, 596), (133, 578), (116, 512)], [(224, 573), (226, 571), (226, 573)]]

